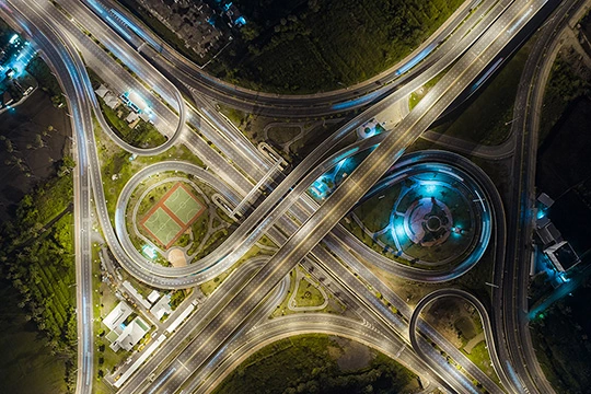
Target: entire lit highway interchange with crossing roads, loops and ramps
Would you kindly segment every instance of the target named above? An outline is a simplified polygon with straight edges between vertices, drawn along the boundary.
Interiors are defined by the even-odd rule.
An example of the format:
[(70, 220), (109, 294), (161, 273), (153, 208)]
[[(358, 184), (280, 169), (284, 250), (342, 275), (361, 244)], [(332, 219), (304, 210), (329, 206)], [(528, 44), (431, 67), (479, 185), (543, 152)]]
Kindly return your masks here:
[[(536, 147), (536, 127), (532, 127), (531, 123), (537, 121), (535, 112), (529, 109), (529, 103), (534, 100), (540, 106), (540, 90), (530, 93), (531, 89), (538, 89), (540, 83), (523, 84), (524, 88), (518, 93), (515, 102), (515, 112), (523, 115), (520, 116), (522, 120), (512, 125), (512, 132), (517, 136), (514, 179), (519, 187), (514, 188), (514, 201), (510, 209), (503, 208), (495, 185), (468, 160), (441, 151), (410, 155), (404, 155), (404, 152), (456, 103), (479, 77), (498, 63), (499, 54), (519, 45), (515, 42), (520, 34), (535, 30), (545, 16), (556, 9), (555, 14), (544, 25), (542, 38), (536, 42), (525, 68), (529, 74), (524, 78), (531, 81), (540, 78), (537, 66), (546, 59), (546, 51), (555, 47), (560, 28), (566, 25), (570, 14), (582, 8), (583, 1), (563, 1), (559, 4), (558, 1), (534, 0), (467, 1), (448, 24), (409, 58), (396, 65), (389, 73), (380, 76), (380, 83), (370, 80), (351, 90), (306, 97), (275, 96), (236, 90), (208, 78), (201, 70), (197, 70), (195, 65), (166, 46), (165, 50), (158, 55), (149, 45), (143, 44), (146, 36), (142, 38), (131, 34), (124, 37), (119, 35), (121, 28), (131, 31), (126, 26), (116, 28), (105, 23), (102, 14), (116, 8), (111, 1), (61, 0), (58, 3), (60, 9), (50, 2), (10, 0), (2, 3), (0, 10), (4, 19), (24, 30), (43, 51), (69, 100), (78, 163), (74, 176), (80, 339), (78, 393), (91, 393), (94, 379), (90, 239), (94, 212), (117, 262), (129, 274), (157, 288), (189, 288), (210, 280), (230, 269), (263, 235), (281, 245), (270, 258), (236, 268), (221, 285), (220, 291), (213, 292), (202, 308), (165, 341), (140, 371), (127, 382), (121, 382), (121, 393), (173, 393), (178, 390), (207, 392), (247, 355), (265, 344), (302, 333), (341, 335), (376, 348), (417, 372), (424, 379), (426, 389), (432, 389), (432, 384), (448, 392), (476, 393), (479, 392), (473, 382), (473, 379), (476, 379), (491, 393), (552, 392), (535, 360), (524, 316), (531, 253), (531, 250), (524, 246), (531, 243), (531, 220), (528, 220), (528, 217), (532, 211), (534, 190), (535, 148), (532, 147)], [(471, 12), (474, 9), (475, 12)], [(63, 10), (70, 18), (66, 16)], [(121, 59), (137, 78), (89, 38), (81, 31), (81, 26)], [(158, 39), (151, 33), (143, 33), (151, 39)], [(136, 49), (140, 46), (142, 49), (138, 53)], [(414, 63), (416, 56), (425, 50), (428, 56), (421, 59), (424, 61)], [(404, 72), (402, 77), (396, 74), (396, 71), (405, 69), (409, 62), (414, 67), (410, 67), (408, 72)], [(111, 131), (90, 84), (84, 63), (94, 70), (102, 70), (99, 71), (101, 77), (119, 91), (132, 89), (143, 97), (152, 97), (150, 104), (158, 115), (159, 129), (169, 136), (166, 143), (158, 148), (140, 149), (129, 146)], [(174, 67), (169, 68), (170, 63)], [(410, 92), (445, 69), (449, 70), (440, 82), (386, 134), (345, 147), (337, 152), (327, 148), (337, 146), (355, 132), (357, 127), (379, 116), (393, 103), (405, 100)], [(174, 83), (169, 80), (169, 76)], [(187, 90), (194, 103), (185, 102), (183, 92)], [(229, 94), (229, 90), (234, 93)], [(153, 93), (162, 97), (162, 101)], [(531, 94), (537, 96), (531, 99)], [(281, 174), (269, 181), (266, 186), (273, 188), (273, 192), (264, 199), (259, 198), (256, 205), (247, 207), (240, 227), (213, 253), (184, 268), (155, 265), (142, 257), (126, 236), (126, 198), (138, 182), (150, 173), (189, 173), (211, 185), (233, 206), (237, 206), (274, 165), (269, 157), (253, 147), (235, 127), (217, 113), (211, 102), (221, 102), (247, 111), (256, 106), (260, 114), (280, 117), (325, 115), (358, 106), (366, 109), (328, 137), (289, 174)], [(352, 104), (335, 105), (347, 102)], [(114, 228), (106, 208), (104, 181), (92, 132), (93, 115), (108, 137), (130, 153), (154, 155), (166, 151), (173, 144), (184, 143), (207, 163), (209, 171), (182, 162), (160, 162), (147, 166), (131, 178), (120, 194)], [(526, 121), (529, 124), (525, 124)], [(212, 150), (206, 141), (213, 142), (219, 151)], [(322, 205), (310, 198), (306, 189), (320, 175), (345, 157), (351, 157), (370, 147), (376, 148)], [(533, 154), (526, 154), (528, 152)], [(418, 169), (420, 165), (434, 165), (433, 163), (445, 164), (468, 174), (474, 185), (477, 185), (475, 187), (486, 195), (484, 211), (488, 209), (490, 216), (484, 227), (488, 230), (483, 231), (486, 236), (483, 235), (482, 253), (478, 256), (466, 259), (450, 271), (416, 269), (395, 264), (379, 255), (339, 224), (340, 219), (384, 174), (405, 166)], [(478, 301), (470, 293), (442, 290), (429, 296), (430, 298), (413, 310), (363, 264), (378, 262), (378, 266), (406, 279), (444, 282), (472, 268), (488, 244), (495, 258), (491, 280), (498, 288), (491, 289), (493, 301), (487, 300), (484, 303), (484, 300)], [(344, 301), (354, 308), (358, 318), (302, 314), (267, 320), (270, 311), (285, 297), (288, 274), (300, 262), (324, 273), (334, 287), (341, 290), (339, 293), (344, 294)], [(399, 315), (386, 308), (371, 289), (383, 294), (399, 311)], [(462, 297), (476, 305), (483, 317), (500, 386), (420, 320), (419, 306), (432, 298), (447, 296)], [(496, 306), (493, 308), (491, 304)], [(418, 328), (415, 329), (417, 325)], [(421, 335), (417, 336), (417, 332)], [(189, 337), (189, 345), (179, 347)], [(431, 341), (462, 366), (462, 371), (449, 364), (430, 345)], [(164, 360), (167, 361), (163, 362)], [(153, 381), (148, 379), (150, 375), (154, 376)]]

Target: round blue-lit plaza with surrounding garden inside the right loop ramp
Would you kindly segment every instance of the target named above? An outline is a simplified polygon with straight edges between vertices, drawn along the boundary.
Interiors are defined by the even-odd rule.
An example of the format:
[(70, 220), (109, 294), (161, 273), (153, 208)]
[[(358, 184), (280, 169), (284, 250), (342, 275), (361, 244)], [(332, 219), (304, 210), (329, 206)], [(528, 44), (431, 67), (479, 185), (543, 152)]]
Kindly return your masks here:
[(478, 182), (461, 167), (430, 162), (428, 154), (403, 162), (358, 202), (349, 229), (393, 264), (437, 269), (477, 262), (493, 219)]

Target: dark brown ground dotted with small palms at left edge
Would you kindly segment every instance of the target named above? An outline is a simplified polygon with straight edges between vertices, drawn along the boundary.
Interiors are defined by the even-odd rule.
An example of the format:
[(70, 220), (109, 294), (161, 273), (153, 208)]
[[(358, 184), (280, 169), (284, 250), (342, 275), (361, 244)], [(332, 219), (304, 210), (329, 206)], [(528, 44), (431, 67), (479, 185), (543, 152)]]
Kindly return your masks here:
[(54, 174), (69, 136), (66, 111), (40, 90), (0, 115), (0, 220), (12, 218), (23, 196)]

